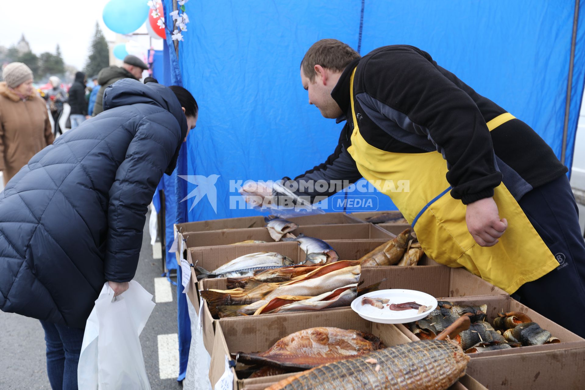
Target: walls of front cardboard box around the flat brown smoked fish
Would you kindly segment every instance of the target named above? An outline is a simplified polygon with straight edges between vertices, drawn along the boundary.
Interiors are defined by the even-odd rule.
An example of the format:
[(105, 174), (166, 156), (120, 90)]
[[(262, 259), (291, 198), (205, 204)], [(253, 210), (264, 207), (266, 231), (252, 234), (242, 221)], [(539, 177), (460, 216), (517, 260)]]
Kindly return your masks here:
[[(409, 339), (401, 334), (394, 325), (378, 324), (362, 319), (351, 309), (315, 312), (310, 316), (306, 313), (290, 313), (285, 316), (265, 316), (259, 318), (243, 317), (242, 319), (226, 319), (218, 325), (214, 350), (209, 370), (209, 380), (215, 386), (225, 370), (225, 359), (230, 353), (240, 351), (265, 351), (277, 340), (288, 334), (316, 326), (332, 326), (341, 329), (354, 329), (369, 332), (380, 337), (388, 347), (408, 343)], [(240, 379), (232, 369), (234, 389), (264, 389), (275, 382), (289, 377), (291, 374), (274, 375), (273, 377)], [(466, 378), (473, 389), (484, 389), (476, 381)], [(461, 383), (451, 389), (466, 389)]]

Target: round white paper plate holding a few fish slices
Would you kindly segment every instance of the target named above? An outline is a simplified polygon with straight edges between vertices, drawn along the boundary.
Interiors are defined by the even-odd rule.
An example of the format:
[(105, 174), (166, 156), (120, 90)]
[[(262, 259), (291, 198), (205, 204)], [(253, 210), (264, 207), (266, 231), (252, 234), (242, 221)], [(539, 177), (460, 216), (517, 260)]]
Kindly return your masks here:
[[(431, 306), (430, 309), (424, 313), (418, 313), (417, 309), (408, 310), (390, 310), (384, 305), (384, 309), (374, 308), (371, 305), (362, 305), (362, 298), (369, 296), (370, 298), (386, 298), (390, 299), (388, 305), (391, 303), (405, 303), (405, 302), (417, 302), (421, 305)], [(407, 322), (418, 321), (428, 316), (437, 307), (437, 300), (434, 296), (426, 294), (416, 290), (402, 290), (402, 289), (389, 289), (369, 292), (362, 296), (358, 296), (352, 302), (352, 309), (360, 317), (369, 320), (371, 322), (379, 322), (385, 324), (402, 324)]]

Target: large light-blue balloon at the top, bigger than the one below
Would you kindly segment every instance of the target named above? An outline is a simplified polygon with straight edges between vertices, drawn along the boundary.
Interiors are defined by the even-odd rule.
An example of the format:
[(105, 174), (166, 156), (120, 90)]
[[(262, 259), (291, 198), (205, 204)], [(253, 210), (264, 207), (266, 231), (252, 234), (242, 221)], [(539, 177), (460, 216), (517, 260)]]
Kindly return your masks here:
[(129, 34), (142, 26), (149, 11), (144, 0), (110, 0), (102, 16), (108, 29), (118, 34)]

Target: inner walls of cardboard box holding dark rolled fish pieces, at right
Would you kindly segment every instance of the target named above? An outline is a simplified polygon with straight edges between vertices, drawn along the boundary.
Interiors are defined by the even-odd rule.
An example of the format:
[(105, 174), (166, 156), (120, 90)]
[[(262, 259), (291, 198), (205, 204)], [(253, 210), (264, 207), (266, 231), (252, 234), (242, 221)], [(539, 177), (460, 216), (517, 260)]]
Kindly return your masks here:
[[(522, 303), (515, 301), (514, 299), (510, 298), (510, 296), (504, 295), (494, 295), (494, 296), (474, 296), (468, 298), (449, 298), (450, 302), (457, 303), (458, 305), (487, 305), (487, 320), (490, 323), (493, 323), (495, 317), (497, 317), (498, 312), (522, 312), (528, 315), (533, 322), (538, 323), (542, 327), (542, 329), (548, 330), (552, 336), (557, 337), (561, 342), (557, 344), (547, 344), (542, 346), (529, 346), (529, 347), (519, 347), (519, 348), (510, 348), (506, 350), (498, 350), (498, 351), (487, 351), (482, 353), (474, 353), (469, 354), (472, 360), (475, 359), (483, 359), (490, 356), (507, 356), (507, 355), (518, 355), (518, 354), (525, 354), (525, 353), (546, 353), (547, 351), (552, 350), (559, 350), (565, 348), (576, 348), (576, 347), (583, 347), (585, 348), (585, 340), (581, 337), (577, 336), (576, 334), (570, 332), (569, 330), (563, 328), (562, 326), (552, 322), (548, 318), (540, 315), (539, 313), (535, 312), (534, 310), (528, 308)], [(404, 334), (406, 334), (411, 340), (418, 340), (417, 336), (412, 334), (408, 327), (405, 325), (397, 325), (398, 329), (400, 329)]]

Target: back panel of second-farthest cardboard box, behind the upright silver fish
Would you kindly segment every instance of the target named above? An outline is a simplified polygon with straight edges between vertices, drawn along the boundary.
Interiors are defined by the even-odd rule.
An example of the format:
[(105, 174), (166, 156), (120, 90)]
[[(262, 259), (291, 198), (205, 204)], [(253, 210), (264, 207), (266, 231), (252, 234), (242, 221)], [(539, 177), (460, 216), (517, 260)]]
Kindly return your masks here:
[[(387, 232), (387, 230), (381, 229), (371, 223), (300, 226), (297, 230), (291, 233), (295, 236), (302, 233), (305, 234), (305, 236), (315, 237), (321, 240), (390, 240), (394, 237), (394, 235)], [(266, 227), (185, 233), (183, 234), (183, 239), (183, 247), (185, 249), (202, 246), (230, 245), (246, 240), (274, 242)]]

